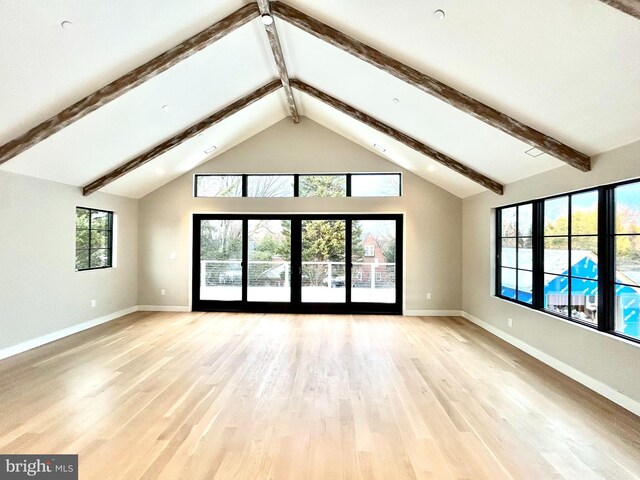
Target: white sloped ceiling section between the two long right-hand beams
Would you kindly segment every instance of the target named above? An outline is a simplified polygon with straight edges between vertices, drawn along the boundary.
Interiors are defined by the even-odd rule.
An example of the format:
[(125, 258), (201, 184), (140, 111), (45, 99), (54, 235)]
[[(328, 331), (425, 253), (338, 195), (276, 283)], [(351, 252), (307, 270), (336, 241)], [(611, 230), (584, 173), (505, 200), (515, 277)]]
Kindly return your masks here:
[[(295, 27), (280, 32), (294, 77), (501, 183), (560, 165), (546, 154), (532, 158), (529, 145)], [(336, 81), (336, 71), (349, 75)]]

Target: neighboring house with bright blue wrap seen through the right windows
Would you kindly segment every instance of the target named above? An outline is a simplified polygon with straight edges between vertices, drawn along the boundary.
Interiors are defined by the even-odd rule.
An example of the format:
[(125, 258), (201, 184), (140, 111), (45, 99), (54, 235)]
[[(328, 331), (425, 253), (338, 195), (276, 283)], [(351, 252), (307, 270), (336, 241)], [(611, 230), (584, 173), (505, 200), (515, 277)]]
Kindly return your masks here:
[[(569, 305), (569, 255), (566, 250), (545, 251), (545, 271), (554, 272), (545, 276), (544, 307), (563, 315), (568, 315)], [(520, 267), (531, 265), (531, 249), (518, 250)], [(573, 250), (571, 264), (571, 306), (572, 316), (584, 321), (595, 322), (598, 308), (598, 257), (589, 250)], [(515, 266), (516, 249), (502, 249), (502, 265)], [(555, 273), (557, 272), (557, 273)], [(574, 278), (580, 277), (580, 278)], [(522, 272), (517, 279), (516, 271), (503, 269), (502, 295), (531, 303), (531, 276)], [(616, 271), (616, 282), (637, 283), (629, 275)], [(616, 285), (616, 318), (622, 322), (622, 332), (637, 337), (640, 334), (640, 287)]]

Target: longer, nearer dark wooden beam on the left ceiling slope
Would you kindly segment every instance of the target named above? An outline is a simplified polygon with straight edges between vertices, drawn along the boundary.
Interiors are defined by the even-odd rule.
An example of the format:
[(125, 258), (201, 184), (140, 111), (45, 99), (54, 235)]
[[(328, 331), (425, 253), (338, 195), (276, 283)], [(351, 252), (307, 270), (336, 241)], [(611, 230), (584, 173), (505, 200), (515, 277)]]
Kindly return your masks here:
[(85, 115), (118, 98), (120, 95), (146, 82), (150, 78), (173, 67), (194, 53), (208, 47), (216, 40), (219, 40), (236, 28), (258, 17), (258, 14), (259, 11), (255, 4), (245, 5), (228, 17), (223, 18), (197, 35), (185, 40), (180, 45), (167, 50), (153, 60), (148, 61), (144, 65), (114, 80), (109, 85), (102, 87), (97, 92), (62, 110), (49, 120), (42, 122), (28, 132), (2, 145), (0, 147), (0, 165), (25, 150), (28, 150), (42, 140), (49, 138), (73, 122), (80, 120)]

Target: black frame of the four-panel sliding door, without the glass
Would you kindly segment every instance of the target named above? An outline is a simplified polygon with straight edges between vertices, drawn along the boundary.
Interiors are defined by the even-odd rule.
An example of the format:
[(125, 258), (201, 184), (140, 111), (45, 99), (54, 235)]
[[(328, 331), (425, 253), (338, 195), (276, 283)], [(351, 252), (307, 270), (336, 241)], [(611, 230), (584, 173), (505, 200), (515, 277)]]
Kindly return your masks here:
[[(242, 220), (242, 300), (200, 299), (200, 226), (203, 220)], [(249, 220), (291, 220), (291, 301), (252, 302), (247, 300), (248, 287), (248, 222)], [(302, 279), (298, 267), (302, 264), (302, 221), (344, 220), (345, 278), (351, 279), (351, 225), (354, 220), (395, 220), (396, 222), (396, 301), (395, 303), (365, 303), (351, 301), (351, 282), (345, 285), (344, 303), (302, 303)], [(402, 214), (281, 214), (281, 213), (195, 213), (193, 214), (192, 257), (192, 309), (209, 312), (263, 312), (263, 313), (368, 313), (402, 314), (403, 294), (403, 225)], [(294, 268), (295, 267), (295, 268)], [(294, 274), (295, 272), (295, 274)]]

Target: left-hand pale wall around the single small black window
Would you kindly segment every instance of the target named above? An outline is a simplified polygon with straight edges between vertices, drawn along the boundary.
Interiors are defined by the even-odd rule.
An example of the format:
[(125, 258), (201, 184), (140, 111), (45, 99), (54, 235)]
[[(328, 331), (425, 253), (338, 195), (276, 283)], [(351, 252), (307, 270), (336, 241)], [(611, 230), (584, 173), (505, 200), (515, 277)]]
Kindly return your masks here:
[[(137, 305), (136, 200), (1, 171), (0, 192), (0, 349)], [(115, 212), (116, 268), (75, 271), (76, 206)]]

